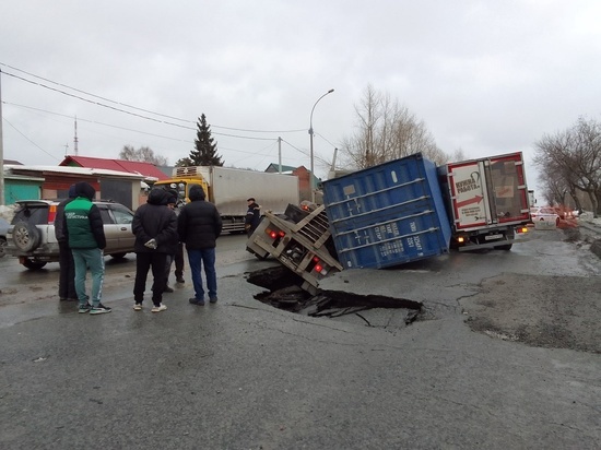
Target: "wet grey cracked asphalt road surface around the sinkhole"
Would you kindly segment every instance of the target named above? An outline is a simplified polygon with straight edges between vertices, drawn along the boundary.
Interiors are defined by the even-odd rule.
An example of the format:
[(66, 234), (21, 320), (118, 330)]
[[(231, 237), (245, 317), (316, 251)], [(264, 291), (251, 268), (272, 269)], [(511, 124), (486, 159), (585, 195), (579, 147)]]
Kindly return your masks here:
[[(569, 281), (585, 287), (565, 300), (592, 298), (597, 313), (580, 333), (598, 328), (601, 260), (564, 238), (537, 233), (509, 252), (322, 284), (422, 301), (410, 325), (396, 309), (331, 320), (266, 306), (244, 274), (271, 262), (237, 242), (220, 257), (216, 305), (189, 305), (188, 280), (155, 315), (131, 309), (131, 261), (105, 287), (114, 311), (98, 317), (56, 300), (50, 268), (30, 300), (0, 304), (0, 448), (599, 448), (599, 353), (471, 327), (517, 297), (545, 305), (544, 282)], [(22, 281), (1, 298), (27, 292), (26, 273), (0, 268)]]

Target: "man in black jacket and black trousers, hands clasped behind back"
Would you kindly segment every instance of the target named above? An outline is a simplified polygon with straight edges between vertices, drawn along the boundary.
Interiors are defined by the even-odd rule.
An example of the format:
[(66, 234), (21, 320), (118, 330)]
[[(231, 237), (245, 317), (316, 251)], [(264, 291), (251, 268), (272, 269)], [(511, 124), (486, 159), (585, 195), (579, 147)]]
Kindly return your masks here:
[(146, 203), (133, 214), (131, 230), (135, 235), (135, 282), (133, 285), (133, 310), (142, 310), (149, 269), (152, 269), (152, 312), (167, 309), (163, 305), (167, 258), (174, 254), (177, 246), (177, 216), (167, 206), (168, 193), (165, 189), (153, 188)]

